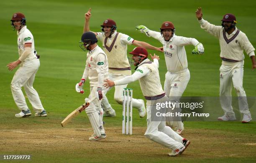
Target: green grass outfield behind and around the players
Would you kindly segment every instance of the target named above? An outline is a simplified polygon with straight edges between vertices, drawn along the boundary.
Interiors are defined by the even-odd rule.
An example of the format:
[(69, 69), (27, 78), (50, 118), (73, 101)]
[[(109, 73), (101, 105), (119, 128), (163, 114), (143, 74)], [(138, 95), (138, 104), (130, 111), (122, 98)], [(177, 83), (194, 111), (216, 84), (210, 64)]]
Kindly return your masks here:
[[(184, 92), (184, 96), (216, 96), (219, 94), (219, 67), (221, 60), (219, 57), (220, 47), (217, 38), (206, 33), (200, 28), (195, 17), (197, 7), (202, 7), (203, 18), (215, 25), (221, 24), (221, 19), (225, 13), (233, 13), (237, 18), (237, 27), (246, 33), (248, 39), (256, 47), (256, 3), (253, 0), (181, 0), (181, 1), (138, 1), (138, 0), (112, 0), (112, 1), (82, 1), (82, 0), (23, 0), (23, 1), (1, 1), (0, 2), (0, 131), (17, 130), (19, 128), (38, 129), (60, 129), (59, 123), (72, 110), (84, 102), (84, 98), (89, 95), (88, 82), (84, 85), (85, 94), (81, 95), (75, 91), (75, 84), (79, 82), (84, 71), (84, 62), (86, 53), (79, 48), (79, 40), (83, 31), (84, 13), (92, 8), (92, 17), (90, 20), (90, 30), (100, 31), (102, 22), (111, 18), (117, 23), (118, 32), (125, 33), (135, 40), (145, 41), (151, 45), (160, 47), (161, 43), (148, 38), (145, 35), (135, 31), (136, 25), (146, 25), (151, 30), (159, 31), (161, 23), (172, 21), (176, 28), (176, 35), (196, 38), (205, 48), (204, 55), (192, 55), (190, 51), (193, 46), (187, 46), (187, 60), (191, 78)], [(40, 118), (24, 118), (22, 120), (15, 118), (14, 114), (18, 113), (17, 106), (13, 101), (10, 91), (10, 82), (17, 68), (12, 72), (8, 71), (5, 66), (18, 59), (17, 35), (10, 27), (12, 14), (20, 11), (26, 15), (28, 29), (31, 30), (35, 40), (35, 47), (41, 55), (41, 67), (36, 75), (34, 88), (38, 91), (44, 108), (48, 116), (42, 120)], [(102, 47), (102, 44), (99, 43)], [(128, 51), (133, 50), (135, 46), (128, 46)], [(156, 51), (149, 50), (150, 53), (160, 55), (160, 78), (164, 83), (166, 65), (164, 55)], [(256, 72), (251, 71), (251, 59), (245, 55), (243, 87), (247, 96), (256, 96)], [(133, 88), (134, 98), (143, 98), (138, 81), (129, 84)], [(121, 127), (121, 105), (118, 105), (113, 99), (114, 90), (108, 92), (108, 100), (113, 108), (117, 110), (118, 116), (115, 118), (105, 118), (106, 129), (108, 127)], [(233, 95), (236, 93), (233, 91)], [(31, 108), (31, 105), (28, 104)], [(256, 109), (256, 108), (251, 108)], [(222, 115), (223, 112), (220, 113)], [(133, 125), (135, 127), (144, 127), (146, 129), (146, 118), (138, 118), (137, 110), (134, 110)], [(256, 117), (253, 117), (256, 118)], [(78, 124), (78, 125), (76, 125)], [(72, 122), (72, 128), (82, 128), (83, 124), (88, 124), (86, 115), (78, 116)], [(29, 127), (30, 126), (30, 127)], [(212, 155), (209, 158), (166, 158), (164, 155), (163, 162), (255, 162), (255, 122), (250, 124), (241, 124), (240, 122), (185, 122), (185, 129), (191, 132), (195, 130), (219, 130), (228, 133), (234, 137), (244, 137), (245, 143), (254, 143), (254, 154), (249, 156), (225, 155), (222, 157)], [(1, 132), (2, 132), (1, 131)], [(186, 134), (186, 133), (184, 133)], [(200, 132), (199, 132), (200, 134)], [(184, 135), (189, 138), (189, 135)], [(87, 139), (86, 135), (85, 139)], [(253, 142), (246, 142), (246, 138), (254, 138)], [(212, 139), (215, 135), (212, 134)], [(146, 138), (145, 138), (146, 139)], [(5, 138), (1, 136), (0, 142)], [(29, 137), (28, 137), (29, 140)], [(239, 139), (240, 140), (240, 139)], [(27, 141), (27, 140), (23, 140)], [(192, 140), (200, 141), (200, 140)], [(216, 140), (217, 141), (217, 140)], [(236, 139), (234, 138), (234, 142)], [(146, 146), (146, 144), (140, 144)], [(234, 148), (239, 145), (234, 143)], [(84, 143), (86, 146), (86, 143)], [(140, 146), (138, 145), (138, 148)], [(159, 147), (160, 148), (160, 147)], [(197, 148), (202, 148), (198, 146)], [(195, 148), (195, 149), (197, 149)], [(251, 148), (244, 146), (246, 148)], [(164, 148), (166, 149), (166, 148)], [(78, 149), (79, 150), (79, 149)], [(93, 150), (93, 149), (92, 149)], [(152, 149), (153, 150), (153, 149)], [(219, 147), (212, 147), (212, 151), (221, 150)], [(34, 155), (33, 162), (65, 162), (65, 158), (73, 158), (74, 151), (65, 153), (61, 156), (57, 150), (42, 150), (42, 152), (32, 149), (23, 149), (22, 145), (16, 150), (6, 150), (0, 144), (1, 154), (19, 154), (28, 151)], [(147, 150), (150, 153), (150, 149)], [(190, 151), (190, 155), (196, 154), (197, 151)], [(226, 152), (226, 151), (225, 151)], [(129, 157), (138, 157), (137, 159), (115, 160), (115, 154), (110, 160), (104, 162), (140, 162), (137, 155), (129, 153)], [(239, 153), (238, 153), (239, 154)], [(40, 155), (40, 158), (37, 156)], [(104, 158), (107, 154), (102, 154)], [(184, 153), (185, 155), (185, 153)], [(93, 162), (97, 154), (85, 156), (75, 155), (77, 160), (72, 162)], [(128, 156), (127, 156), (128, 157)], [(147, 162), (161, 162), (161, 157), (149, 157)], [(54, 158), (55, 161), (53, 161)], [(90, 160), (90, 161), (89, 161)], [(96, 159), (97, 160), (97, 159)], [(22, 162), (22, 161), (21, 161)], [(24, 161), (23, 161), (24, 162)], [(100, 162), (103, 162), (100, 161)]]

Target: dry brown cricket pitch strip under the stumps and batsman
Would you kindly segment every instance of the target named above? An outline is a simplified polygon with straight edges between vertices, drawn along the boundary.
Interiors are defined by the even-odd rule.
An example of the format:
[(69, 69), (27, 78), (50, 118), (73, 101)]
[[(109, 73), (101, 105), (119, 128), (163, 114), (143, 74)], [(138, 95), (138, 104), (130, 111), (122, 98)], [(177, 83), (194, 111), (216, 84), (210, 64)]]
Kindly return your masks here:
[[(33, 162), (191, 162), (204, 159), (255, 158), (256, 135), (186, 128), (183, 137), (189, 147), (176, 157), (171, 150), (144, 136), (146, 128), (133, 128), (133, 135), (122, 135), (121, 127), (106, 127), (107, 138), (89, 141), (90, 126), (84, 128), (1, 129), (0, 151), (3, 154), (30, 154)], [(252, 145), (251, 145), (252, 144)], [(246, 149), (246, 150), (245, 150)]]

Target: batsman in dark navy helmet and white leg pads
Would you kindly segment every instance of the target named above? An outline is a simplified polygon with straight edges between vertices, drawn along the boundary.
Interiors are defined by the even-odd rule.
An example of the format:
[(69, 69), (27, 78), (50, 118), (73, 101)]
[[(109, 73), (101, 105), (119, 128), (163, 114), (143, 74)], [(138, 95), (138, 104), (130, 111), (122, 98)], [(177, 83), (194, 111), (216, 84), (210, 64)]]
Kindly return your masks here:
[(86, 32), (82, 35), (80, 48), (87, 53), (86, 66), (82, 75), (82, 80), (77, 83), (76, 90), (78, 93), (84, 93), (83, 85), (87, 78), (90, 80), (90, 95), (85, 98), (88, 101), (94, 97), (97, 99), (92, 101), (85, 109), (94, 130), (93, 135), (89, 138), (91, 141), (106, 138), (103, 128), (103, 109), (101, 101), (108, 91), (108, 88), (102, 88), (103, 80), (108, 78), (108, 58), (104, 51), (97, 45), (97, 37), (92, 32)]

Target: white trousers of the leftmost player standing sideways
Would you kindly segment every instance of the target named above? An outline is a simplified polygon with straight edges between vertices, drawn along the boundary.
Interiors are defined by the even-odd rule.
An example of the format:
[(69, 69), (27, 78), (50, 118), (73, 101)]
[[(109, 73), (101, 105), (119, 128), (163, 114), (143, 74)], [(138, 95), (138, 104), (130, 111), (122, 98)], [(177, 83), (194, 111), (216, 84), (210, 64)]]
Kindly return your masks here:
[(39, 59), (24, 61), (13, 76), (10, 88), (13, 94), (13, 99), (20, 110), (27, 110), (28, 105), (22, 93), (21, 87), (24, 87), (29, 102), (36, 113), (41, 113), (44, 107), (38, 96), (38, 93), (33, 88), (36, 72), (40, 66)]

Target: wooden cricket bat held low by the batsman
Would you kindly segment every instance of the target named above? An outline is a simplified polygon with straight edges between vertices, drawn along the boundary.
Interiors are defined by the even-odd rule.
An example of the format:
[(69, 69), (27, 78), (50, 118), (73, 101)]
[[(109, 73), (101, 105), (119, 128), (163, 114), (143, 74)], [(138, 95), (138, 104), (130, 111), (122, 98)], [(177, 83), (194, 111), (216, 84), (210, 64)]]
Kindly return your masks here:
[(96, 97), (92, 98), (91, 100), (87, 101), (86, 103), (84, 103), (83, 105), (81, 105), (79, 108), (77, 108), (76, 110), (72, 111), (72, 113), (70, 113), (64, 120), (62, 120), (61, 122), (61, 126), (64, 127), (67, 125), (67, 123), (69, 123), (73, 118), (75, 118), (77, 115), (79, 115), (85, 108), (87, 108), (90, 103), (95, 100)]

